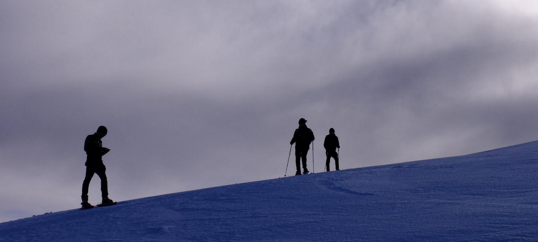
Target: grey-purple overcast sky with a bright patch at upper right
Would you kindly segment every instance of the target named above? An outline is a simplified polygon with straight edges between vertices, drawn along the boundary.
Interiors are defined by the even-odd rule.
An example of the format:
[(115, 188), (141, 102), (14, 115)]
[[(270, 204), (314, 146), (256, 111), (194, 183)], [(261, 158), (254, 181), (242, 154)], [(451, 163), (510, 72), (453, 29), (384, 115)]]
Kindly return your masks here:
[(100, 125), (115, 201), (282, 177), (299, 118), (311, 172), (330, 127), (341, 169), (538, 139), (533, 0), (0, 0), (0, 32), (0, 222), (80, 207)]

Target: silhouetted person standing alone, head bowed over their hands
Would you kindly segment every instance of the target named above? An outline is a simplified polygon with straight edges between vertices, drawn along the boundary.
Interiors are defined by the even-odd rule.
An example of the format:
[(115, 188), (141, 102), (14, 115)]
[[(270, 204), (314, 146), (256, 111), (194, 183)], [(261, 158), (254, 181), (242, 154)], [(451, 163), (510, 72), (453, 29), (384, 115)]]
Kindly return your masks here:
[(93, 205), (88, 203), (88, 187), (91, 177), (96, 173), (101, 178), (101, 195), (103, 197), (103, 205), (113, 203), (108, 198), (108, 184), (105, 170), (107, 168), (103, 164), (103, 155), (110, 151), (109, 148), (103, 147), (101, 139), (107, 135), (107, 127), (99, 126), (97, 132), (90, 134), (84, 141), (84, 151), (88, 155), (86, 158), (86, 177), (82, 182), (82, 208), (93, 208)]

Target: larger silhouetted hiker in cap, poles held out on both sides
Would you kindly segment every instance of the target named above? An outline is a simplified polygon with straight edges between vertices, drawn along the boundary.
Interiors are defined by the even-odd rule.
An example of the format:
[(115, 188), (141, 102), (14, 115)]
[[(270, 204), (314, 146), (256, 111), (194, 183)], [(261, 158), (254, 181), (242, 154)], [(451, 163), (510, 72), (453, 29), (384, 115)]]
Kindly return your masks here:
[(308, 129), (306, 126), (306, 121), (304, 118), (299, 119), (299, 129), (295, 130), (293, 133), (292, 141), (289, 142), (290, 145), (295, 144), (295, 166), (297, 167), (297, 172), (295, 175), (301, 175), (301, 164), (300, 161), (303, 161), (303, 174), (308, 173), (306, 168), (306, 155), (308, 150), (310, 150), (310, 143), (314, 141), (314, 133), (312, 130)]

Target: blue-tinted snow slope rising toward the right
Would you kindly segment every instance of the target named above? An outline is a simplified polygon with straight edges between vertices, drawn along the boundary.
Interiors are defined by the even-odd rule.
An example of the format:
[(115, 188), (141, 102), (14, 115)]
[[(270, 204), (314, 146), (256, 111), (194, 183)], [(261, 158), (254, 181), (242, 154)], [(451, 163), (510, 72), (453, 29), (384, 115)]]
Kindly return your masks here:
[(46, 213), (0, 241), (538, 241), (537, 172), (534, 141)]

